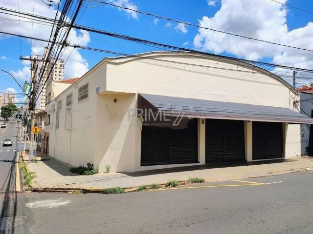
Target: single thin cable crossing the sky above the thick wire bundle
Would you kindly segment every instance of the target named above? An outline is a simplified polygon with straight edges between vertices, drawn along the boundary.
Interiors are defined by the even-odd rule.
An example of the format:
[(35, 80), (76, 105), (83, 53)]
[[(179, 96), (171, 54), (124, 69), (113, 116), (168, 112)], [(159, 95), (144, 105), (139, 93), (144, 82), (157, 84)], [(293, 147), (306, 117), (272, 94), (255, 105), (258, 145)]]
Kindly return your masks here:
[(298, 50), (304, 50), (304, 51), (313, 52), (313, 50), (311, 50), (311, 49), (300, 48), (300, 47), (291, 46), (291, 45), (286, 45), (286, 44), (281, 44), (281, 43), (272, 42), (272, 41), (268, 41), (268, 40), (262, 40), (262, 39), (251, 38), (251, 37), (247, 37), (247, 36), (244, 36), (244, 35), (239, 35), (239, 34), (235, 34), (235, 33), (230, 33), (230, 32), (226, 32), (226, 31), (222, 31), (222, 30), (217, 30), (217, 29), (213, 29), (213, 28), (202, 27), (202, 26), (199, 26), (199, 25), (197, 25), (197, 24), (193, 24), (193, 23), (189, 23), (189, 22), (184, 22), (184, 21), (181, 21), (181, 20), (174, 20), (174, 19), (171, 19), (171, 18), (168, 18), (168, 17), (158, 16), (158, 15), (155, 15), (155, 14), (152, 14), (152, 13), (149, 13), (149, 12), (143, 12), (143, 11), (135, 10), (135, 9), (128, 8), (128, 7), (123, 7), (123, 6), (116, 5), (116, 4), (107, 2), (107, 1), (101, 1), (101, 0), (99, 0), (99, 1), (96, 1), (96, 2), (101, 2), (101, 3), (103, 3), (103, 4), (111, 5), (111, 6), (120, 8), (120, 9), (124, 9), (124, 10), (128, 10), (128, 11), (134, 11), (134, 12), (139, 13), (139, 14), (148, 15), (148, 16), (153, 16), (153, 17), (156, 17), (156, 18), (159, 18), (159, 19), (162, 19), (162, 20), (169, 20), (169, 21), (173, 21), (173, 22), (177, 22), (177, 23), (182, 23), (182, 24), (185, 24), (185, 25), (190, 25), (190, 26), (193, 26), (193, 27), (197, 27), (197, 28), (201, 28), (201, 29), (210, 30), (210, 31), (213, 31), (213, 32), (224, 33), (224, 34), (231, 35), (231, 36), (235, 36), (235, 37), (240, 37), (240, 38), (245, 38), (245, 39), (250, 39), (250, 40), (256, 40), (256, 41), (265, 42), (265, 43), (274, 44), (274, 45), (279, 45), (279, 46), (284, 46), (284, 47), (288, 47), (288, 48), (292, 48), (292, 49), (298, 49)]

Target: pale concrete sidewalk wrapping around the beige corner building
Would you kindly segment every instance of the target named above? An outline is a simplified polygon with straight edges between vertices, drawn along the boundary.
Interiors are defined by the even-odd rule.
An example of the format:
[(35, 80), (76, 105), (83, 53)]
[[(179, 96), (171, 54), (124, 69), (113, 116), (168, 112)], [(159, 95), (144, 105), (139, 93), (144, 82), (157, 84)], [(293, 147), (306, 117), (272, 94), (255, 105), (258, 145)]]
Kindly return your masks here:
[(206, 182), (216, 182), (278, 175), (313, 167), (312, 157), (298, 157), (253, 163), (199, 165), (134, 173), (99, 173), (91, 176), (79, 176), (69, 172), (70, 165), (50, 156), (43, 154), (37, 156), (39, 155), (43, 161), (27, 163), (28, 154), (22, 153), (29, 171), (36, 173), (32, 187), (37, 189), (103, 189), (118, 186), (132, 188), (153, 183), (164, 184), (173, 179), (187, 180), (193, 176), (203, 178)]

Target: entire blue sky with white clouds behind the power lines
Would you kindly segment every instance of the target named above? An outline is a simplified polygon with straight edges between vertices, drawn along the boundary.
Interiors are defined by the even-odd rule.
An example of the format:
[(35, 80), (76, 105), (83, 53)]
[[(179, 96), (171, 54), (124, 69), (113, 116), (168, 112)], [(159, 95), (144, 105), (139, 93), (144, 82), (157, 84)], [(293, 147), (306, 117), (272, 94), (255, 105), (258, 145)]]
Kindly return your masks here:
[[(46, 0), (44, 0), (46, 1)], [(200, 26), (227, 31), (247, 37), (264, 39), (281, 44), (313, 49), (313, 14), (283, 6), (272, 0), (107, 0), (116, 5), (150, 12), (168, 18), (191, 22)], [(278, 0), (313, 12), (313, 1)], [(63, 0), (61, 0), (62, 5)], [(0, 6), (54, 18), (56, 6), (50, 7), (41, 0), (0, 0)], [(78, 20), (78, 21), (77, 21)], [(313, 68), (313, 52), (286, 48), (264, 42), (238, 38), (205, 29), (156, 19), (121, 10), (109, 5), (85, 1), (77, 20), (78, 24), (140, 39), (195, 49), (214, 54)], [(0, 13), (0, 31), (48, 39), (48, 25)], [(68, 41), (104, 50), (126, 54), (159, 50), (130, 41), (108, 36), (71, 30)], [(0, 34), (0, 69), (10, 72), (22, 85), (29, 81), (29, 62), (20, 56), (42, 55), (45, 42), (20, 39)], [(82, 49), (66, 48), (65, 78), (80, 77), (105, 57), (114, 57)], [(279, 69), (277, 69), (278, 72)], [(292, 71), (288, 71), (292, 72)], [(280, 74), (291, 75), (282, 71)], [(297, 74), (301, 78), (313, 75)], [(286, 78), (291, 82), (291, 78)], [(297, 85), (310, 82), (301, 80)], [(21, 93), (20, 87), (6, 73), (0, 71), (0, 92), (10, 90)]]

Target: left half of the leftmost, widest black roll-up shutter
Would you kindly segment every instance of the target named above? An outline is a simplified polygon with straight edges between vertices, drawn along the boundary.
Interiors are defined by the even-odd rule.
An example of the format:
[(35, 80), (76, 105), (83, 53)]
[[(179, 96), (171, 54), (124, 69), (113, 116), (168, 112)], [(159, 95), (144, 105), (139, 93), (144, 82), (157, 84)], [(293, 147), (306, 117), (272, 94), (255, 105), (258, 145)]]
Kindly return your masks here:
[(141, 166), (170, 163), (170, 133), (168, 128), (142, 126)]

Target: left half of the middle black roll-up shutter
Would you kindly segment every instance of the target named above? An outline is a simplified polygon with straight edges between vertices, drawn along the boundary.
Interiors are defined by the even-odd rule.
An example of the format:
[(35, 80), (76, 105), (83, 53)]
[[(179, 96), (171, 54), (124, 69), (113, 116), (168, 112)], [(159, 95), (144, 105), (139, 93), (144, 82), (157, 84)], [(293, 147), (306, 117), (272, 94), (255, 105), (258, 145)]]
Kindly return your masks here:
[(205, 162), (224, 161), (224, 120), (205, 121)]

